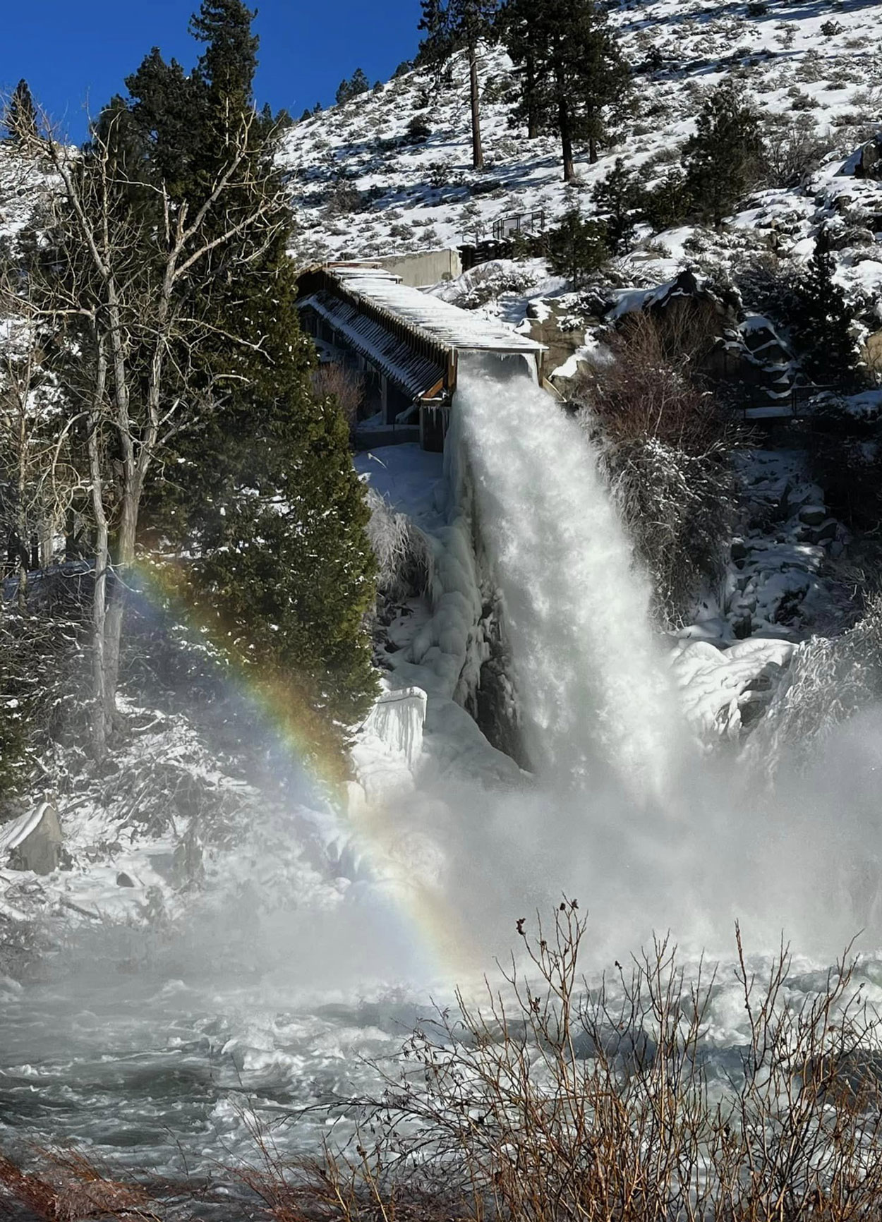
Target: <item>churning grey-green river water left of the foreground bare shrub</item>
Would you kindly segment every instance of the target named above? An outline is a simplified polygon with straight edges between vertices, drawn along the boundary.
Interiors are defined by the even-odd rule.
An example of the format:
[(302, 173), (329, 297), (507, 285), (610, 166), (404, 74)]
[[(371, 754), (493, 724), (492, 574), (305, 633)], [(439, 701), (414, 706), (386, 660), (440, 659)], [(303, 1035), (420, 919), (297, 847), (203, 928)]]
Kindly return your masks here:
[(0, 1150), (75, 1144), (117, 1169), (215, 1177), (257, 1160), (255, 1119), (280, 1149), (315, 1150), (326, 1107), (393, 1068), (418, 1006), (290, 993), (106, 962), (26, 984), (2, 1004)]

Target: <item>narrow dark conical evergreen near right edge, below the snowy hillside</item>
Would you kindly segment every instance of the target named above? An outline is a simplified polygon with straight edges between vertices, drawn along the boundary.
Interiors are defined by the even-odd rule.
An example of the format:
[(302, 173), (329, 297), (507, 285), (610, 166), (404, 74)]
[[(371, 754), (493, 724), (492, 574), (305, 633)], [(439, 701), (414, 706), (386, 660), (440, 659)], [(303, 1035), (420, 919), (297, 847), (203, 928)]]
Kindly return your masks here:
[(815, 240), (815, 251), (796, 286), (792, 319), (803, 353), (803, 368), (823, 384), (850, 381), (856, 362), (851, 314), (836, 284), (836, 259), (826, 226)]

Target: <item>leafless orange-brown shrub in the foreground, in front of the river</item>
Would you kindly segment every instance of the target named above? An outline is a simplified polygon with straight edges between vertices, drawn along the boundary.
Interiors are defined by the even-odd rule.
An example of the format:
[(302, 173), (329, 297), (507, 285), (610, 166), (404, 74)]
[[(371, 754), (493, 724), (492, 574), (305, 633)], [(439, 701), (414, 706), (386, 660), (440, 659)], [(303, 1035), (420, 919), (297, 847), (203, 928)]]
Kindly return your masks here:
[(279, 1222), (878, 1216), (878, 1018), (848, 951), (794, 1004), (789, 952), (760, 982), (737, 931), (748, 1034), (721, 1068), (705, 1046), (715, 971), (688, 980), (656, 941), (591, 990), (573, 902), (519, 932), (525, 970), (426, 1022), (343, 1152), (249, 1176)]

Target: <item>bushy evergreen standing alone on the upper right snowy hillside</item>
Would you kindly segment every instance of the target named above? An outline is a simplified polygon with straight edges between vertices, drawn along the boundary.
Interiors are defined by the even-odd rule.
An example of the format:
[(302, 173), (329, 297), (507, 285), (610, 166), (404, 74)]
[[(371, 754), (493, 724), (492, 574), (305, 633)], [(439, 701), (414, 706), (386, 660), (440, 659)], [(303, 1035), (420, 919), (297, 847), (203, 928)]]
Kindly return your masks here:
[(737, 82), (722, 81), (707, 95), (683, 150), (687, 193), (716, 229), (756, 182), (761, 154), (753, 104)]

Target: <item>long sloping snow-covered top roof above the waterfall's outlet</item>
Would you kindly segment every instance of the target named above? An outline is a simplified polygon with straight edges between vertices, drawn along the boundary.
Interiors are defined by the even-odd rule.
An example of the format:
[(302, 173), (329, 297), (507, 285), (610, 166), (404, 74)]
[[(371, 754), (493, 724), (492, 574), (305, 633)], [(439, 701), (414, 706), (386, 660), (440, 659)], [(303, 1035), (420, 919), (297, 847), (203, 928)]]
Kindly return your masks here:
[(545, 348), (525, 335), (518, 335), (503, 323), (492, 323), (450, 302), (410, 288), (391, 271), (369, 264), (331, 264), (327, 273), (352, 295), (377, 309), (395, 314), (426, 338), (456, 351), (544, 352)]

